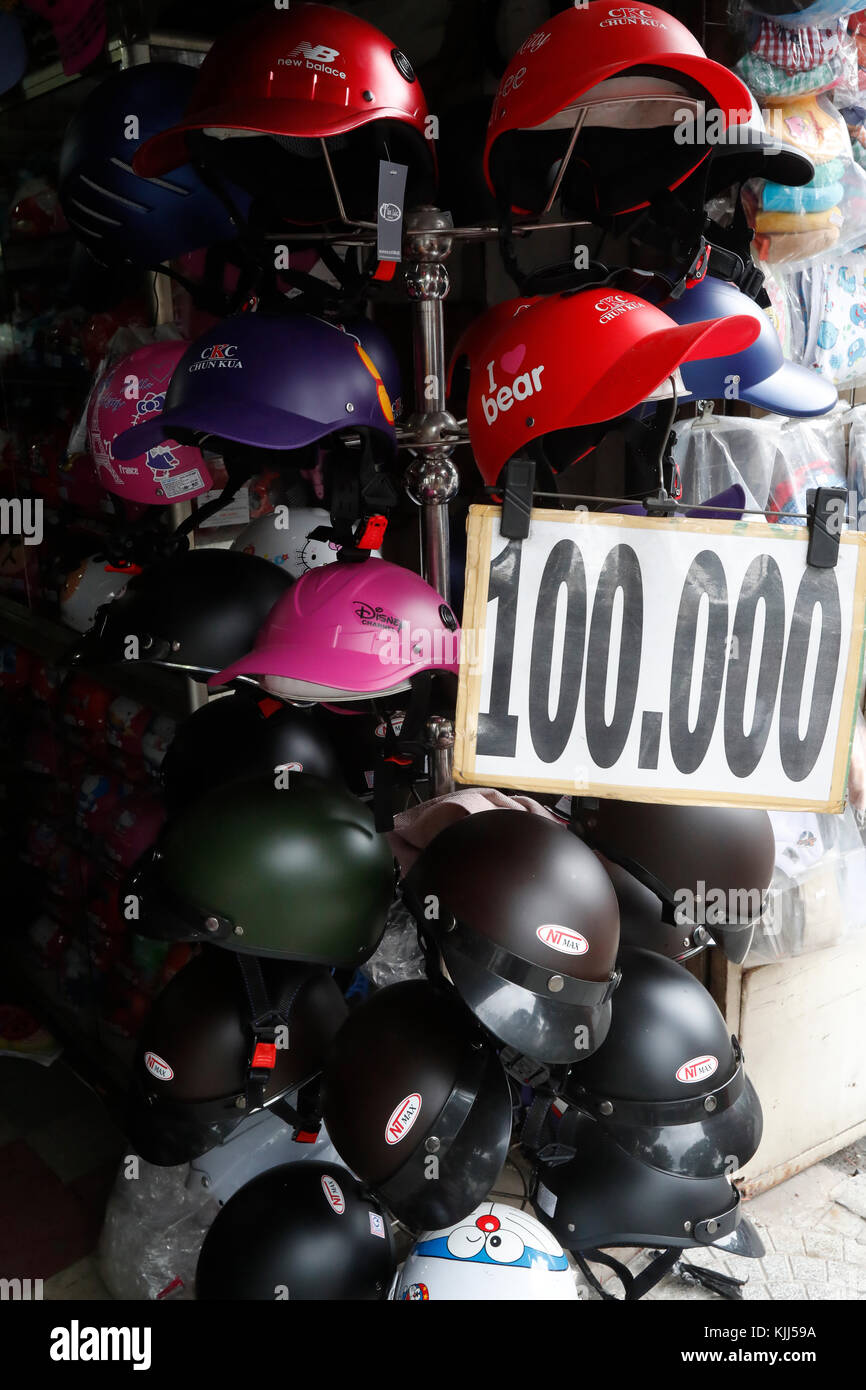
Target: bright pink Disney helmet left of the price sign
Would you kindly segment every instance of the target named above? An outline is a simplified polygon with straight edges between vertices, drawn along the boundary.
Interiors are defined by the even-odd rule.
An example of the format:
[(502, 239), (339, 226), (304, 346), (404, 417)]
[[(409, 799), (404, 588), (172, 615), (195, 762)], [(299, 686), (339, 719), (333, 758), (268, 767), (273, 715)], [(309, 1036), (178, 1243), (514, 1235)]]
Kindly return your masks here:
[(409, 689), (421, 671), (457, 674), (460, 631), (420, 575), (388, 560), (328, 564), (278, 599), (252, 652), (211, 677), (254, 676), (291, 701), (357, 701)]

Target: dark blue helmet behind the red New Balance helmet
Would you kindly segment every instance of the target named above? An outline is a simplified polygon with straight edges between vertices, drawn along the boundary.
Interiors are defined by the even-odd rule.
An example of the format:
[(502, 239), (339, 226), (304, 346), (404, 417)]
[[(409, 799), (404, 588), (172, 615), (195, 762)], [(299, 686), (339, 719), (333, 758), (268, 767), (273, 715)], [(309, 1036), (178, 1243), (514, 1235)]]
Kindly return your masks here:
[[(60, 152), (60, 202), (97, 261), (156, 265), (236, 236), (225, 204), (190, 164), (163, 178), (132, 170), (139, 145), (181, 120), (195, 82), (196, 70), (182, 63), (125, 68), (72, 117)], [(245, 214), (249, 197), (229, 192)]]

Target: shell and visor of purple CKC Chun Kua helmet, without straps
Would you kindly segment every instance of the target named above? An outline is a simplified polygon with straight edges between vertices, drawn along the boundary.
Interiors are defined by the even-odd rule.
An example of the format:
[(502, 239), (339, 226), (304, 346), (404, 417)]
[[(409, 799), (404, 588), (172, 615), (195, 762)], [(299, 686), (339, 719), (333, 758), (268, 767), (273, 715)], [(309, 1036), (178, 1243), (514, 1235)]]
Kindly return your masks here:
[(190, 435), (220, 452), (225, 442), (284, 452), (342, 432), (368, 439), (382, 460), (395, 455), (388, 389), (359, 336), (309, 314), (240, 314), (189, 345), (161, 416), (118, 435), (114, 455), (138, 457)]

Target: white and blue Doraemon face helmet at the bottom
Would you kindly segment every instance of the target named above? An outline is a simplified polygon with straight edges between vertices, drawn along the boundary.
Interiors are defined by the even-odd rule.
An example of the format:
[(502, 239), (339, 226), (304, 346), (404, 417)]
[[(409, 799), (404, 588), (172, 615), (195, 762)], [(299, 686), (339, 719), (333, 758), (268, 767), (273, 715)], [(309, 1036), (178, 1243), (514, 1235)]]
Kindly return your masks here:
[(391, 1297), (577, 1301), (562, 1245), (528, 1212), (481, 1202), (445, 1230), (424, 1232), (399, 1270)]

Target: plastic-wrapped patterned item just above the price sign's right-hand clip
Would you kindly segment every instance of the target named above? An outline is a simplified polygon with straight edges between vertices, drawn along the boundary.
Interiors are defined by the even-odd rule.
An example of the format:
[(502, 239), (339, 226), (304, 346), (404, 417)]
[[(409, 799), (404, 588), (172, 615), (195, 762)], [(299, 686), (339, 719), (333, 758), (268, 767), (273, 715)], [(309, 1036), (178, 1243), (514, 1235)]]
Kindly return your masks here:
[(767, 498), (767, 521), (806, 525), (809, 489), (847, 489), (847, 473), (845, 411), (834, 410), (823, 420), (785, 421)]

